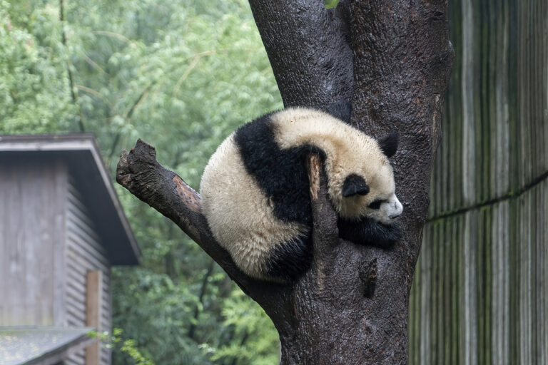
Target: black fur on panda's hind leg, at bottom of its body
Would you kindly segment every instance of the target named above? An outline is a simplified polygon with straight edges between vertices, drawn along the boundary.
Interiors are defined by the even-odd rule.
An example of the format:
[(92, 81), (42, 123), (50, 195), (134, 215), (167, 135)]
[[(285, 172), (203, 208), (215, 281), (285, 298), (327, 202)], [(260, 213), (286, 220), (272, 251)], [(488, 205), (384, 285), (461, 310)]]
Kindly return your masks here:
[(310, 268), (312, 252), (310, 232), (290, 242), (284, 242), (268, 255), (266, 273), (269, 277), (291, 282)]

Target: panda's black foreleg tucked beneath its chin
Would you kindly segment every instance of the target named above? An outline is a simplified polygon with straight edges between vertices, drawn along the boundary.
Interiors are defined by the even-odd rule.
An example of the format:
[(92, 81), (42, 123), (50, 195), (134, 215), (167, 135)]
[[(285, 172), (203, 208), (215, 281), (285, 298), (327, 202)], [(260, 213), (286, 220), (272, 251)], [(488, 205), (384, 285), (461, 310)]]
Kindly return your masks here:
[(402, 229), (397, 223), (383, 225), (370, 218), (356, 222), (338, 220), (339, 237), (357, 244), (390, 248), (402, 237)]

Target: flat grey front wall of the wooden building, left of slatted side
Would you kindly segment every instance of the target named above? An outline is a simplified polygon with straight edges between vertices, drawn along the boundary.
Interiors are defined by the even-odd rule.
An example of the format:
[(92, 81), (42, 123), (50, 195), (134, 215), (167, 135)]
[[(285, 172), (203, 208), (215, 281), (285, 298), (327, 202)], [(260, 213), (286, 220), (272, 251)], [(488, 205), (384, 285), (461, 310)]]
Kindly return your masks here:
[(64, 323), (65, 188), (61, 163), (0, 158), (0, 325)]

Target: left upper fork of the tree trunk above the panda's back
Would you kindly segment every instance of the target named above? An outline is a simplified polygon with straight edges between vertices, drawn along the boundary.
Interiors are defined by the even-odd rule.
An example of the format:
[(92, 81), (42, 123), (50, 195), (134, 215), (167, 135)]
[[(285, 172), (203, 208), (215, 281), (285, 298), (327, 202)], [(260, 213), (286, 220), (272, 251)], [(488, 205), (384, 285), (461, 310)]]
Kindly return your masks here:
[(250, 0), (285, 107), (323, 108), (352, 96), (347, 6), (323, 1)]

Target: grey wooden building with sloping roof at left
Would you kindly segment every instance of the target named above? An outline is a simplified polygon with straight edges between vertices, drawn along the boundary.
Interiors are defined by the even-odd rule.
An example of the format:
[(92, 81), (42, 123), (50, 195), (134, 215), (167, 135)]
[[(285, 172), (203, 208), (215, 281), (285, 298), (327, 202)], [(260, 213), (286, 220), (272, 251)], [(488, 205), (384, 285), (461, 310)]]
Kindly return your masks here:
[[(110, 331), (111, 266), (139, 255), (93, 135), (0, 136), (0, 351), (3, 329)], [(39, 363), (111, 363), (82, 341)]]

